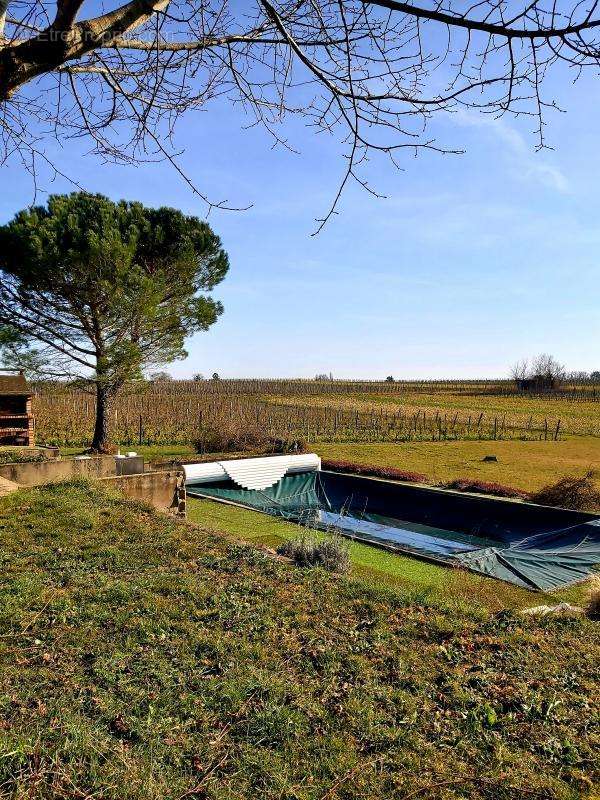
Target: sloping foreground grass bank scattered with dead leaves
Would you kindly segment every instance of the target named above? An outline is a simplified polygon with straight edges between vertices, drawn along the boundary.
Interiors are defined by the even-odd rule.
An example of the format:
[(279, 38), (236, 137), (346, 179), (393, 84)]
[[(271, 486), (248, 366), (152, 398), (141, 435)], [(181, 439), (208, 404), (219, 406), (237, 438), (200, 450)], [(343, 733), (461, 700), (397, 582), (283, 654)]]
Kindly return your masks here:
[(0, 500), (0, 558), (2, 796), (592, 795), (588, 620), (368, 590), (86, 484)]

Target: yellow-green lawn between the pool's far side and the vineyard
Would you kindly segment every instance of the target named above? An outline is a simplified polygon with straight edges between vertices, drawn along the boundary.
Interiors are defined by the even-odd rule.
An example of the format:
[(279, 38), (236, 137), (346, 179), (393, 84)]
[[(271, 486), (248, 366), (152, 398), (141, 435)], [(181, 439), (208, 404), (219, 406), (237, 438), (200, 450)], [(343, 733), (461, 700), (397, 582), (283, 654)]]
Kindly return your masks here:
[[(421, 472), (432, 481), (479, 478), (535, 490), (563, 475), (600, 466), (600, 438), (573, 436), (558, 442), (407, 442), (316, 444), (322, 458)], [(495, 455), (498, 462), (483, 461)]]

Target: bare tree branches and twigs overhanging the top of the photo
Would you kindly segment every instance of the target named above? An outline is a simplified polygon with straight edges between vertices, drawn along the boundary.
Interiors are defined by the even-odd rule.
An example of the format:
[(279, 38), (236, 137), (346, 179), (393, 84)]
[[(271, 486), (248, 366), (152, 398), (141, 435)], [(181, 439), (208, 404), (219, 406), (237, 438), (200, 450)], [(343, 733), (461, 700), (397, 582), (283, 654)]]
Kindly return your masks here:
[[(460, 110), (535, 120), (549, 73), (600, 67), (600, 0), (130, 0), (81, 19), (83, 0), (0, 0), (0, 163), (36, 180), (44, 136), (87, 137), (104, 159), (177, 163), (180, 116), (227, 98), (275, 146), (286, 117), (345, 147), (340, 189), (371, 189), (377, 153), (460, 152), (428, 132)], [(252, 5), (254, 3), (254, 5)], [(1, 28), (0, 28), (1, 31)], [(35, 124), (32, 124), (35, 123)], [(36, 131), (36, 133), (33, 133)], [(192, 186), (207, 203), (205, 192)], [(326, 214), (335, 213), (341, 192)]]

